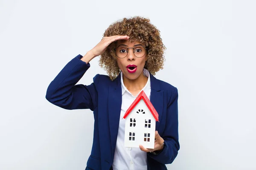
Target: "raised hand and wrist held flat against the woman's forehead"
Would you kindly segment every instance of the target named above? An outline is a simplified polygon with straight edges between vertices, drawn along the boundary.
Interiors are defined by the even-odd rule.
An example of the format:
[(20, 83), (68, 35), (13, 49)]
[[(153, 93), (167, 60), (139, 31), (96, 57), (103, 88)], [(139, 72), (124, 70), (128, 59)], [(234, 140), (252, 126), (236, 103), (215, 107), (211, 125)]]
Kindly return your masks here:
[(81, 60), (88, 63), (94, 57), (101, 55), (106, 50), (108, 45), (110, 45), (112, 42), (116, 40), (127, 40), (127, 39), (129, 39), (127, 35), (114, 35), (111, 37), (103, 37), (102, 40), (93, 49), (88, 51), (87, 54), (85, 54), (84, 57), (81, 58)]

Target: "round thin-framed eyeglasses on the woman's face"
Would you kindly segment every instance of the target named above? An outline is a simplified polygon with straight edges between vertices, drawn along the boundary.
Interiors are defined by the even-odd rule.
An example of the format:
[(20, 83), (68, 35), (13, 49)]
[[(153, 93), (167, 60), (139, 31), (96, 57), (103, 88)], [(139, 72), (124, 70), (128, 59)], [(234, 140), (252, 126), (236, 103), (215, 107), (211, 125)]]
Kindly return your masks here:
[[(128, 55), (128, 49), (129, 48), (127, 48), (123, 45), (116, 47), (115, 48), (116, 56), (119, 58), (125, 58)], [(132, 49), (133, 49), (133, 53), (134, 53), (135, 57), (141, 58), (141, 57), (145, 56), (147, 48), (145, 48), (143, 45), (137, 45)]]

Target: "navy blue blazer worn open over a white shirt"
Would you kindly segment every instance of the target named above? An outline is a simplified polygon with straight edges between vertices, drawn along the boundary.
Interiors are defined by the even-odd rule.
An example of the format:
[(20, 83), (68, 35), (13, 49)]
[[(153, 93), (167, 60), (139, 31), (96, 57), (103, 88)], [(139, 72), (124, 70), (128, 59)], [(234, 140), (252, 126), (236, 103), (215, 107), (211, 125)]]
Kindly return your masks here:
[[(93, 146), (86, 169), (110, 170), (116, 148), (116, 138), (122, 105), (120, 74), (111, 81), (106, 75), (97, 74), (90, 85), (76, 85), (90, 64), (76, 56), (50, 83), (46, 99), (64, 109), (90, 109), (94, 114)], [(150, 101), (159, 114), (156, 130), (165, 141), (161, 153), (147, 153), (148, 170), (166, 170), (177, 156), (178, 142), (178, 93), (177, 88), (156, 79), (150, 74)]]

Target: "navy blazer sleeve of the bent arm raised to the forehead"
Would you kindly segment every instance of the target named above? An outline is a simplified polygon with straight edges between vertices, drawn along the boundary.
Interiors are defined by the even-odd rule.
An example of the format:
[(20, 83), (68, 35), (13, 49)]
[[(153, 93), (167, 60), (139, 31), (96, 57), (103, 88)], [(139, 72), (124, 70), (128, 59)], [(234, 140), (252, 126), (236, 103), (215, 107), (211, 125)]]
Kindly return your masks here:
[(64, 109), (94, 110), (97, 106), (97, 91), (95, 84), (99, 82), (99, 74), (93, 78), (90, 85), (76, 85), (90, 68), (90, 63), (81, 60), (79, 54), (65, 65), (61, 72), (49, 84), (46, 99), (52, 104)]

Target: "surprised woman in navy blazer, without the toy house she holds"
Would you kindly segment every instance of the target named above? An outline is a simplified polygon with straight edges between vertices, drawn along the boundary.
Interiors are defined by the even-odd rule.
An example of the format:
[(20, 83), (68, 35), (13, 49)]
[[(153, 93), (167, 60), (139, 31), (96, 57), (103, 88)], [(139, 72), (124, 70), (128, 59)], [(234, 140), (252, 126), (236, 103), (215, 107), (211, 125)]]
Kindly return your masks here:
[[(109, 26), (93, 49), (72, 59), (50, 83), (46, 98), (52, 104), (93, 111), (93, 146), (86, 170), (165, 170), (165, 164), (174, 161), (180, 148), (177, 88), (153, 76), (163, 68), (165, 49), (149, 19), (124, 18)], [(90, 60), (99, 55), (108, 76), (97, 74), (91, 85), (76, 85)], [(141, 91), (159, 114), (154, 149), (124, 147), (122, 117)]]

